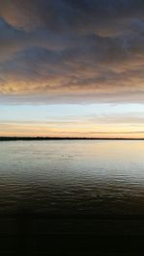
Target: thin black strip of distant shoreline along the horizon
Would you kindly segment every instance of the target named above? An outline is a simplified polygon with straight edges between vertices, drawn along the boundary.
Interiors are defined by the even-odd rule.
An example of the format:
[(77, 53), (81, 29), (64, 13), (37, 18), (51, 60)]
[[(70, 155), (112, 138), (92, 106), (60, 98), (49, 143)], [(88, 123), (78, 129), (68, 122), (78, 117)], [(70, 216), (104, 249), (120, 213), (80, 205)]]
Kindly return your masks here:
[(0, 141), (144, 141), (144, 138), (0, 137)]

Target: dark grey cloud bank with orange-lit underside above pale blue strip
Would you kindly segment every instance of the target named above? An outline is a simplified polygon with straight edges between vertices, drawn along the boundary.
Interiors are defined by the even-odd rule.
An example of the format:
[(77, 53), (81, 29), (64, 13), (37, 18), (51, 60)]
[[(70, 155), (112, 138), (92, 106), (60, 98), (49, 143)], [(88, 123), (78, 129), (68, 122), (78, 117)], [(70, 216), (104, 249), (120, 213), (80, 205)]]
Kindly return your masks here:
[(1, 102), (143, 102), (144, 1), (0, 0)]

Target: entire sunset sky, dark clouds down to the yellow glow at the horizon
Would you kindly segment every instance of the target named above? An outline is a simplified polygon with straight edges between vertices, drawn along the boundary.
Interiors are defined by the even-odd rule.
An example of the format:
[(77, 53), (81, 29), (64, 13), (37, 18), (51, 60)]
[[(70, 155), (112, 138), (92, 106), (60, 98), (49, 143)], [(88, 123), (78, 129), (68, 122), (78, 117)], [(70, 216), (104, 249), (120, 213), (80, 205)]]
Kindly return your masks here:
[(144, 138), (144, 1), (0, 0), (0, 136)]

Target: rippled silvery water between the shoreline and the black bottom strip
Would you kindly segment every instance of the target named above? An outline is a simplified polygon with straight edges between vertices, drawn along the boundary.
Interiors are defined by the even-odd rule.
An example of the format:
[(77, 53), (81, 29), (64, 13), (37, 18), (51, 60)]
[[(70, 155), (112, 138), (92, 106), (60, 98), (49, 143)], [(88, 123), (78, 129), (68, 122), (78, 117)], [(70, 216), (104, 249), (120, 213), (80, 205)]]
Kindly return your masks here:
[(0, 209), (144, 214), (144, 141), (1, 141)]

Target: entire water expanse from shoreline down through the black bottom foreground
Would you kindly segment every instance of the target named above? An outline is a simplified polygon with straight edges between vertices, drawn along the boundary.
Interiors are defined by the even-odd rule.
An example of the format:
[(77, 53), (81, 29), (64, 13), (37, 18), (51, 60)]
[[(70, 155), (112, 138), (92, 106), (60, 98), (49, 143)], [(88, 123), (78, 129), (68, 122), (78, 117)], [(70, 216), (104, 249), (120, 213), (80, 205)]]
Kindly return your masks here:
[(144, 141), (1, 141), (0, 255), (143, 256)]

